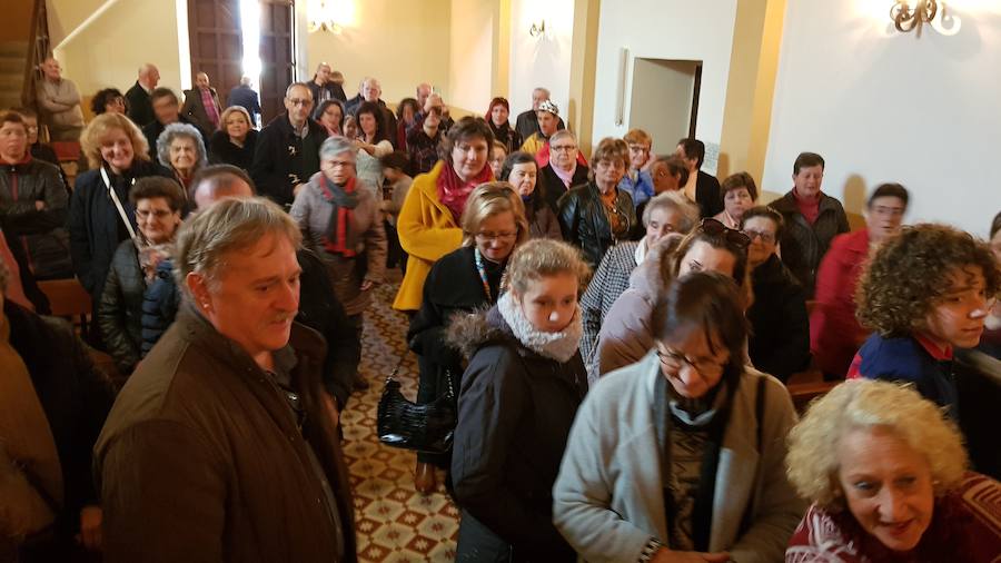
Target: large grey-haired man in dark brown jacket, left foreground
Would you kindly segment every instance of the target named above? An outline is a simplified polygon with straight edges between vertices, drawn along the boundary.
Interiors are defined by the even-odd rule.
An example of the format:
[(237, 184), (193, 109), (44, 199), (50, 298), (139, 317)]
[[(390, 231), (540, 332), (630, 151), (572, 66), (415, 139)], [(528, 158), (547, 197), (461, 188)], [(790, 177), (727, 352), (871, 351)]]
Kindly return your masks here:
[(181, 310), (95, 446), (106, 561), (357, 561), (324, 342), (293, 320), (300, 241), (262, 198), (181, 227)]

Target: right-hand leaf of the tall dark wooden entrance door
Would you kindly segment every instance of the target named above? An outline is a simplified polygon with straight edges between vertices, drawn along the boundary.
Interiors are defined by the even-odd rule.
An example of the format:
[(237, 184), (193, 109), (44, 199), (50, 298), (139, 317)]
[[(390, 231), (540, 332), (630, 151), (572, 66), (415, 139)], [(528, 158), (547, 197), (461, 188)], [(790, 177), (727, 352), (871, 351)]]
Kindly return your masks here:
[(261, 124), (285, 111), (285, 89), (296, 80), (295, 0), (260, 0)]

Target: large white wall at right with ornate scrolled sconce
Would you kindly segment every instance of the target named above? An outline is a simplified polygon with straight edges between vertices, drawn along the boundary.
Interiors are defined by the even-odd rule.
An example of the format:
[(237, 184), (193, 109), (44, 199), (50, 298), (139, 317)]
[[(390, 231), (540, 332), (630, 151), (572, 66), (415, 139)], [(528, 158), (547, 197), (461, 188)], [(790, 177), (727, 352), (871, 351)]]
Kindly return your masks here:
[(787, 191), (793, 160), (812, 150), (826, 159), (824, 191), (849, 211), (900, 181), (909, 223), (985, 236), (1001, 210), (1001, 8), (953, 0), (959, 31), (918, 38), (889, 32), (875, 3), (789, 2), (762, 185)]

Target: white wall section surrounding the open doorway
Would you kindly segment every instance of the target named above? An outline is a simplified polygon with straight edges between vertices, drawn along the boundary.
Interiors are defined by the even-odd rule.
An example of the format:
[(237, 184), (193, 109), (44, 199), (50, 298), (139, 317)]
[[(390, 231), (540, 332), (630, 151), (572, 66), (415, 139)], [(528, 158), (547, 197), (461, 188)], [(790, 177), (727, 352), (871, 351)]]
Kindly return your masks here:
[[(797, 2), (800, 0), (796, 0)], [(594, 93), (594, 142), (622, 137), (628, 130), (628, 93), (625, 121), (615, 125), (620, 81), (620, 49), (630, 50), (626, 92), (632, 90), (635, 57), (702, 60), (702, 93), (695, 136), (718, 144), (733, 48), (736, 0), (634, 0), (627, 4), (602, 2)], [(677, 139), (654, 139), (655, 152), (674, 150)]]

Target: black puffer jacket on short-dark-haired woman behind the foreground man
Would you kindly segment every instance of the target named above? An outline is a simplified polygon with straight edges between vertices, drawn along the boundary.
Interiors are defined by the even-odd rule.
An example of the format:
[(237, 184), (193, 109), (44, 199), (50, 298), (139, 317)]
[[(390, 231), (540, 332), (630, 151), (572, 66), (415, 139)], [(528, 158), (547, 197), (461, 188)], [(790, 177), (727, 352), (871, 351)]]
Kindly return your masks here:
[(97, 308), (101, 338), (123, 375), (131, 374), (139, 363), (145, 293), (146, 279), (139, 267), (136, 245), (123, 240), (111, 257), (111, 268)]

